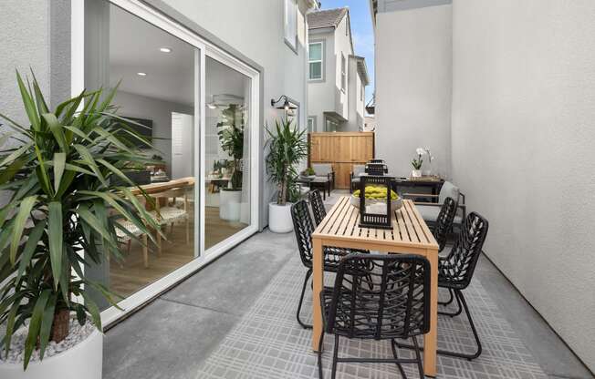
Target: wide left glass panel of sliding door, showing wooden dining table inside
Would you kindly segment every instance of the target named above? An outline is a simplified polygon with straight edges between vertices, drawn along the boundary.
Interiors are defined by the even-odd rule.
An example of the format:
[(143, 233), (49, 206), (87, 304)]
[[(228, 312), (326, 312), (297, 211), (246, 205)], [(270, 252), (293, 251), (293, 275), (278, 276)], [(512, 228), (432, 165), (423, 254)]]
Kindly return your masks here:
[[(114, 98), (119, 115), (132, 119), (152, 148), (139, 146), (159, 163), (138, 166), (130, 163), (127, 175), (138, 185), (165, 183), (194, 177), (195, 67), (198, 50), (141, 18), (106, 1), (87, 1), (85, 87), (120, 88)], [(151, 193), (158, 208), (162, 233), (139, 235), (140, 241), (126, 235), (120, 238), (122, 260), (111, 259), (93, 272), (99, 282), (123, 297), (161, 279), (198, 256), (194, 246), (193, 184), (181, 184)], [(144, 200), (140, 198), (140, 200)], [(146, 207), (152, 210), (150, 204)], [(122, 220), (127, 229), (130, 225)], [(135, 231), (130, 227), (130, 231)], [(148, 248), (142, 241), (149, 241)], [(98, 297), (99, 299), (99, 297)], [(106, 302), (99, 301), (101, 309)]]

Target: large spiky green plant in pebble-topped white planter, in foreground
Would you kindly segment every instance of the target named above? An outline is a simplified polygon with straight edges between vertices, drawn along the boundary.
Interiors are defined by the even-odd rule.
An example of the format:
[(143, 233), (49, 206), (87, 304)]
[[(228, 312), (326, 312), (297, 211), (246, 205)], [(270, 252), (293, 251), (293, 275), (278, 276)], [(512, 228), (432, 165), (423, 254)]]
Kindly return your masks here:
[(112, 184), (132, 187), (122, 171), (152, 161), (134, 148), (144, 138), (111, 113), (115, 88), (50, 111), (35, 77), (30, 87), (16, 77), (30, 125), (0, 115), (12, 129), (0, 136), (0, 377), (99, 379), (101, 319), (91, 291), (112, 305), (118, 297), (85, 267), (121, 258), (117, 220), (150, 236), (149, 227), (158, 229), (130, 189)]

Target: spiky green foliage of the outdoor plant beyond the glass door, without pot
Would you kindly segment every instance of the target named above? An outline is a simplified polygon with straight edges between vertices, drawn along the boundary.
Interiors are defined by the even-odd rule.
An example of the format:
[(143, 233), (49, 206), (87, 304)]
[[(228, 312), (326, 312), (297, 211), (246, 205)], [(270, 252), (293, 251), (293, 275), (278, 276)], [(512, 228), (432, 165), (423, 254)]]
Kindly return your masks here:
[(277, 204), (285, 205), (295, 198), (297, 165), (308, 158), (306, 130), (291, 126), (287, 118), (275, 121), (275, 133), (266, 127), (269, 152), (266, 156), (266, 172), (269, 179), (277, 184)]

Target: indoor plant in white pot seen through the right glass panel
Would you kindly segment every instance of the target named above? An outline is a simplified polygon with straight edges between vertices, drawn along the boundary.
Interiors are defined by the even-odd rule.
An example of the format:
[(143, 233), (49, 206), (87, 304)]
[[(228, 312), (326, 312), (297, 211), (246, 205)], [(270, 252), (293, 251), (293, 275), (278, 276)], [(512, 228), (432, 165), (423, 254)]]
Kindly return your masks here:
[(222, 220), (240, 220), (242, 202), (242, 158), (244, 156), (244, 111), (231, 104), (221, 112), (217, 135), (221, 149), (229, 155), (231, 186), (219, 192), (219, 217)]

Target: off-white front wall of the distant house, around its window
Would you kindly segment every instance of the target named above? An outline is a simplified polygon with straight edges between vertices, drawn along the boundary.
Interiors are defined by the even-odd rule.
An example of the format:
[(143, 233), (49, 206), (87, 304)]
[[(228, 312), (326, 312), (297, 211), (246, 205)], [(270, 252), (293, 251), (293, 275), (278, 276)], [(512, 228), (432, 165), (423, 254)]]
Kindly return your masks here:
[(308, 117), (316, 118), (315, 131), (324, 131), (324, 112), (335, 108), (335, 36), (334, 29), (324, 30), (309, 33), (309, 42), (324, 44), (322, 80), (308, 80)]

